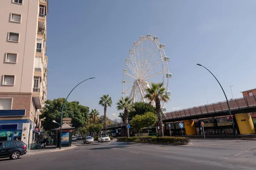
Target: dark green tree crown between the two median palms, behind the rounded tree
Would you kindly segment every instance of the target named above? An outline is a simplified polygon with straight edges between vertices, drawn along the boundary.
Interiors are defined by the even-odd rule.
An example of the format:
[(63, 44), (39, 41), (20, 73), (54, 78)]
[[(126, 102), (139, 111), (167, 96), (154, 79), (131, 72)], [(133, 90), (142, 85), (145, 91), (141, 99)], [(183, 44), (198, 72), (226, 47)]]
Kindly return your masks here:
[(135, 115), (142, 115), (146, 112), (157, 113), (156, 108), (154, 106), (148, 105), (148, 103), (145, 102), (135, 102), (134, 109), (135, 111), (129, 112), (129, 117), (134, 117)]

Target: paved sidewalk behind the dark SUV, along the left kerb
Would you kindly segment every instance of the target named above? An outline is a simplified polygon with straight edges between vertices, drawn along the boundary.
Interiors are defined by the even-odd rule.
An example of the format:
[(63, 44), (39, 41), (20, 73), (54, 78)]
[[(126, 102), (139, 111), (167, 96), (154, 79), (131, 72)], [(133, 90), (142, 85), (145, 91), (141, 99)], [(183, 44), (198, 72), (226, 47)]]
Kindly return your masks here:
[(76, 146), (71, 146), (71, 147), (61, 147), (61, 150), (56, 146), (46, 146), (45, 149), (35, 149), (35, 150), (28, 150), (26, 155), (24, 156), (30, 156), (30, 155), (40, 155), (40, 154), (44, 154), (44, 153), (52, 153), (52, 152), (60, 152), (60, 151), (64, 151), (64, 150), (69, 150), (69, 149), (73, 149)]

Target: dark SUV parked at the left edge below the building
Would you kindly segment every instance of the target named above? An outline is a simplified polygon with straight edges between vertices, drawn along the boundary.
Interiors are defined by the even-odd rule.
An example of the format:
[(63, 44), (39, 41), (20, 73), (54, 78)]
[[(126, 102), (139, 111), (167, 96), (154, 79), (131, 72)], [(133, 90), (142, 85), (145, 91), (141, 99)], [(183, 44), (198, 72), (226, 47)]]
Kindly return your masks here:
[(26, 144), (21, 141), (0, 141), (0, 158), (18, 159), (26, 154)]

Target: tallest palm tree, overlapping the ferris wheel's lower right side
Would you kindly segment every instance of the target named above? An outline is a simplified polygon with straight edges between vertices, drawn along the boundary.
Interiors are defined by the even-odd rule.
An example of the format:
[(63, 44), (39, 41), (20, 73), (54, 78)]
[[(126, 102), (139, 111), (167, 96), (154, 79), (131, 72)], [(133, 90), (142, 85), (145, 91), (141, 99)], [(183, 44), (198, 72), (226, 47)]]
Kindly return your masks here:
[(151, 82), (151, 88), (146, 88), (146, 95), (144, 98), (147, 98), (150, 102), (154, 102), (157, 110), (158, 126), (160, 127), (160, 135), (163, 136), (163, 121), (161, 116), (161, 104), (160, 102), (168, 102), (170, 100), (169, 96), (165, 93), (165, 88), (163, 88), (163, 82), (153, 83)]

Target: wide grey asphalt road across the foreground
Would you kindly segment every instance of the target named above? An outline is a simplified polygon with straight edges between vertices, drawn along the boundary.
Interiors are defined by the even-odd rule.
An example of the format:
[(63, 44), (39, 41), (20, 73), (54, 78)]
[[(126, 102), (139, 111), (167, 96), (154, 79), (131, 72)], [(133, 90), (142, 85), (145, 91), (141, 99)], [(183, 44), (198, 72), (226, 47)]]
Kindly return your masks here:
[(255, 170), (256, 141), (191, 140), (183, 146), (105, 142), (56, 153), (0, 159), (2, 170)]

